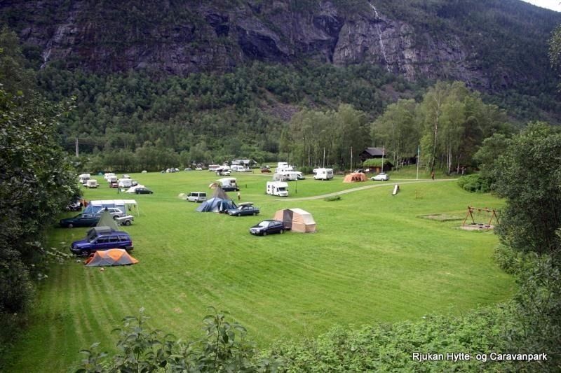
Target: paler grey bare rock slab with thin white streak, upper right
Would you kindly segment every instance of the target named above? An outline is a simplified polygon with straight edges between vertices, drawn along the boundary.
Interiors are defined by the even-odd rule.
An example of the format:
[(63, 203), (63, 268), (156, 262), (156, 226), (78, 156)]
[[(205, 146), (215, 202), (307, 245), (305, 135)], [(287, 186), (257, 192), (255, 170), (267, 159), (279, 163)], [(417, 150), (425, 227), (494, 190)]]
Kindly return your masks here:
[(486, 85), (482, 73), (471, 69), (469, 52), (457, 36), (419, 36), (409, 24), (388, 19), (374, 6), (371, 9), (370, 14), (346, 20), (334, 50), (334, 64), (370, 62), (410, 80), (454, 78)]

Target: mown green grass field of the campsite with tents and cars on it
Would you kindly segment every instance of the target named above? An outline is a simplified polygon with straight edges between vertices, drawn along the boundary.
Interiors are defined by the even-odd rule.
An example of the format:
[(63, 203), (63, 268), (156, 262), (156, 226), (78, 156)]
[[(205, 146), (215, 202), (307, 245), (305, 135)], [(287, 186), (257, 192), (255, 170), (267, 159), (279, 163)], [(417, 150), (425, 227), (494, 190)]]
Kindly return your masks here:
[[(85, 195), (137, 200), (140, 216), (126, 231), (140, 263), (104, 272), (76, 259), (53, 267), (13, 353), (12, 372), (65, 372), (79, 362), (78, 351), (93, 342), (114, 349), (111, 330), (141, 307), (151, 326), (179, 338), (201, 335), (201, 318), (215, 306), (229, 311), (266, 347), (274, 339), (314, 337), (335, 324), (461, 314), (507, 300), (515, 289), (492, 260), (497, 244), (492, 232), (459, 230), (461, 220), (420, 218), (463, 217), (468, 205), (501, 206), (489, 195), (464, 192), (455, 181), (407, 184), (395, 174), (391, 182), (377, 182), (379, 187), (326, 202), (295, 198), (374, 183), (309, 178), (290, 183), (291, 197), (280, 199), (264, 195), (270, 176), (237, 174), (243, 202), (255, 202), (261, 215), (236, 218), (198, 213), (198, 204), (178, 198), (181, 192), (210, 194), (208, 184), (216, 177), (208, 171), (131, 176), (154, 195), (117, 195), (101, 176), (101, 187)], [(403, 184), (392, 196), (396, 182)], [(286, 207), (313, 213), (318, 232), (248, 233), (251, 225)], [(50, 244), (69, 252), (69, 244), (85, 232), (55, 228)]]

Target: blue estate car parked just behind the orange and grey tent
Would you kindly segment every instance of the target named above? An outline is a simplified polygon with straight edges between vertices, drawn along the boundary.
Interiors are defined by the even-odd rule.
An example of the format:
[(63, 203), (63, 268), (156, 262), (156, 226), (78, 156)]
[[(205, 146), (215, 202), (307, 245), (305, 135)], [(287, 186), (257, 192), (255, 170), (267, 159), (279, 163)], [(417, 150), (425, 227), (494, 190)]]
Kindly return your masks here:
[(111, 230), (110, 227), (94, 227), (88, 231), (86, 239), (72, 242), (70, 251), (75, 255), (88, 256), (97, 250), (123, 248), (133, 250), (133, 240), (127, 232)]

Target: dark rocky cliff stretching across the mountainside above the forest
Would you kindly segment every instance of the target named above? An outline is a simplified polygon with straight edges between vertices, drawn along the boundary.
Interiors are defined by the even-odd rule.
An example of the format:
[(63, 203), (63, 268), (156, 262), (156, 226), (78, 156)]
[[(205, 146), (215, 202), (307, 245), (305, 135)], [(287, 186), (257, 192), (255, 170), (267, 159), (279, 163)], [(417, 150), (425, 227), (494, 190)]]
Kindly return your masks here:
[[(484, 1), (471, 2), (485, 6)], [(518, 8), (522, 6), (520, 1), (513, 2)], [(42, 66), (62, 61), (68, 67), (92, 71), (148, 69), (187, 74), (228, 71), (254, 59), (280, 63), (314, 59), (335, 65), (370, 62), (411, 80), (453, 78), (483, 88), (508, 85), (538, 73), (529, 66), (520, 71), (501, 57), (501, 63), (485, 61), (480, 45), (474, 45), (474, 39), (466, 35), (476, 34), (491, 43), (495, 36), (490, 28), (455, 27), (460, 15), (450, 6), (410, 7), (409, 16), (401, 19), (392, 6), (374, 0), (347, 4), (309, 0), (38, 0), (2, 1), (0, 13), (22, 41), (38, 49)], [(541, 11), (527, 9), (534, 16)], [(416, 20), (416, 12), (424, 20)], [(547, 12), (543, 13), (547, 15), (546, 27), (553, 29), (561, 18), (543, 12)], [(511, 20), (517, 22), (520, 17)], [(513, 48), (522, 53), (522, 44), (517, 43), (513, 40)], [(532, 64), (546, 69), (544, 38), (539, 43), (541, 55), (533, 57), (539, 61)]]

